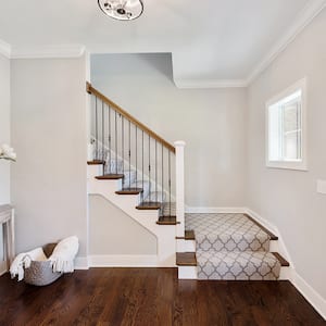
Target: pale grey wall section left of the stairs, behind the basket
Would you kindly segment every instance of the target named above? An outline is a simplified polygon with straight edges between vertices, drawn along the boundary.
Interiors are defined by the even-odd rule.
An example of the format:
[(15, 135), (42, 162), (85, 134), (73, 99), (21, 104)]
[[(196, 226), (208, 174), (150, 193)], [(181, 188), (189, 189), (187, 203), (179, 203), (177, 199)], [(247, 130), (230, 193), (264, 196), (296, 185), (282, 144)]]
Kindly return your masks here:
[(11, 137), (17, 251), (70, 235), (86, 254), (85, 58), (12, 60)]

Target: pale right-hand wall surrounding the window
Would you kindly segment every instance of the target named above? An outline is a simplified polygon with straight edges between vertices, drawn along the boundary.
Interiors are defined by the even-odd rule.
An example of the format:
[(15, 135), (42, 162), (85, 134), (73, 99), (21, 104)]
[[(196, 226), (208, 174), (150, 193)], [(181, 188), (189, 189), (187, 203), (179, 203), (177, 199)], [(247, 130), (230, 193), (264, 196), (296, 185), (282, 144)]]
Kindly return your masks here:
[[(248, 188), (250, 209), (275, 224), (298, 274), (326, 298), (326, 10), (250, 86)], [(265, 102), (308, 78), (308, 172), (266, 168)]]

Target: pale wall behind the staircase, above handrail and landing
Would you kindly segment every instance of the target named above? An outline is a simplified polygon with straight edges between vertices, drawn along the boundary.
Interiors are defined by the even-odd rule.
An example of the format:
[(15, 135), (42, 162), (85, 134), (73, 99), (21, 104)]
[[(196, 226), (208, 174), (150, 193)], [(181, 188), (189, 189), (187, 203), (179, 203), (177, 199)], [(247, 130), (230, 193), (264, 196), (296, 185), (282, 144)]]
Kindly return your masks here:
[(244, 89), (178, 89), (171, 55), (91, 55), (91, 83), (173, 143), (185, 140), (186, 203), (243, 206)]

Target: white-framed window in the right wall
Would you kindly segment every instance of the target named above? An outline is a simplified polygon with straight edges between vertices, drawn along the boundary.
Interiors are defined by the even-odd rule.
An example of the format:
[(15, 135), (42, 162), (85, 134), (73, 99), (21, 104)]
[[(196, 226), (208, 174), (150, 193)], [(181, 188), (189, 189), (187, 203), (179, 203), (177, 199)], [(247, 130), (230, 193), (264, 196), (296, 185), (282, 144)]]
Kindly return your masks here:
[(266, 103), (266, 165), (306, 170), (305, 79)]

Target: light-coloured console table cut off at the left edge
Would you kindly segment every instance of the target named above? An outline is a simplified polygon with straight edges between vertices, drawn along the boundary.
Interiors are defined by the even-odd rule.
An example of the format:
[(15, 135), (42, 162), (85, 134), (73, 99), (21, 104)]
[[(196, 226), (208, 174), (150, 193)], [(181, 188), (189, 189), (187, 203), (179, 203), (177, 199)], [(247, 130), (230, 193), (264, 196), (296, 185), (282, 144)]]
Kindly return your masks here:
[(9, 269), (15, 255), (14, 209), (10, 204), (0, 205), (0, 224), (3, 230), (4, 261), (0, 262), (0, 273)]

